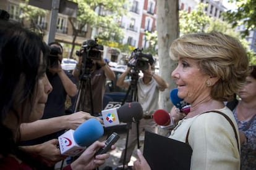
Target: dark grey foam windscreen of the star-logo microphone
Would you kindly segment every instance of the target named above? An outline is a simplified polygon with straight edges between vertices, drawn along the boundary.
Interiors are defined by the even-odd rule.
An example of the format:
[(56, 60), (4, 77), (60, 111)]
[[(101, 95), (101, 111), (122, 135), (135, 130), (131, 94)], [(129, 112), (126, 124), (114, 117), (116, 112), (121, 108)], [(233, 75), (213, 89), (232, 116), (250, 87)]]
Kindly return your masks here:
[(136, 122), (143, 118), (142, 105), (139, 102), (125, 103), (117, 109), (119, 121), (124, 123)]

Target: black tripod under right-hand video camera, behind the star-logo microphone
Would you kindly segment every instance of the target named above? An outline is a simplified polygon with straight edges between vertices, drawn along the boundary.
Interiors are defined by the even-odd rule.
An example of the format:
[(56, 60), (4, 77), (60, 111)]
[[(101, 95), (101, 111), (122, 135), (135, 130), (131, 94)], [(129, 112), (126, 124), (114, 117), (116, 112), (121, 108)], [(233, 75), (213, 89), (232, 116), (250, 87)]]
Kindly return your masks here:
[[(139, 71), (139, 70), (138, 70)], [(130, 86), (128, 91), (126, 92), (126, 96), (124, 97), (124, 101), (122, 102), (122, 105), (124, 102), (126, 102), (127, 98), (132, 97), (131, 102), (138, 102), (138, 94), (137, 94), (137, 83), (139, 79), (139, 73), (137, 70), (133, 71), (132, 73), (132, 81), (130, 82)], [(122, 169), (124, 169), (124, 166), (126, 164), (126, 154), (127, 154), (127, 147), (128, 147), (128, 139), (129, 139), (129, 131), (132, 126), (132, 123), (127, 123), (127, 135), (126, 135), (126, 148), (124, 150), (124, 160), (122, 161)], [(137, 147), (140, 148), (140, 140), (139, 140), (139, 121), (136, 122), (136, 128), (137, 128)]]

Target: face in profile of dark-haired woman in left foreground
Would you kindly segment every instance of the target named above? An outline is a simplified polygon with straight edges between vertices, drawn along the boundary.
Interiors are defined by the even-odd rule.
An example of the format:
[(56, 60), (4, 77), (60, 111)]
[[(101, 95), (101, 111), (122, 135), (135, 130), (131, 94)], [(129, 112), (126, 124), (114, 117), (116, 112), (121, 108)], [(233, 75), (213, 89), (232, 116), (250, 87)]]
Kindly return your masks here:
[(48, 94), (52, 91), (53, 87), (49, 83), (46, 76), (45, 68), (43, 68), (43, 55), (41, 54), (40, 68), (38, 70), (38, 87), (35, 89), (35, 102), (32, 108), (32, 113), (28, 121), (36, 121), (43, 116), (45, 110), (45, 103), (48, 99)]

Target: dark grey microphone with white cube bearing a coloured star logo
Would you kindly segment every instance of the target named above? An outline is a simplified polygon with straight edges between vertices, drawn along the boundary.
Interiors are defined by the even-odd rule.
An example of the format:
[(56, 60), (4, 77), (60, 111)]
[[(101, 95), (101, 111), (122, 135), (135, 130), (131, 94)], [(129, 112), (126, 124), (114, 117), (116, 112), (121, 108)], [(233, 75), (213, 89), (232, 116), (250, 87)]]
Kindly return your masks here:
[(143, 118), (142, 105), (139, 102), (125, 103), (119, 108), (101, 111), (104, 126), (116, 126), (123, 123), (137, 122)]

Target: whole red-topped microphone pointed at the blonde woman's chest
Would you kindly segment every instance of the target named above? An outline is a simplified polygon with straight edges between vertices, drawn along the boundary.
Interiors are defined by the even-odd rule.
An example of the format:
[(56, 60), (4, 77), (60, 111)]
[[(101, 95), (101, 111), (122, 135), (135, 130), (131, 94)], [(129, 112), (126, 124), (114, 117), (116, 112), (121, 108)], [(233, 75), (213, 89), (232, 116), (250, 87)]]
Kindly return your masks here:
[(153, 119), (156, 124), (160, 125), (161, 129), (174, 127), (171, 115), (163, 109), (158, 109), (153, 113)]

